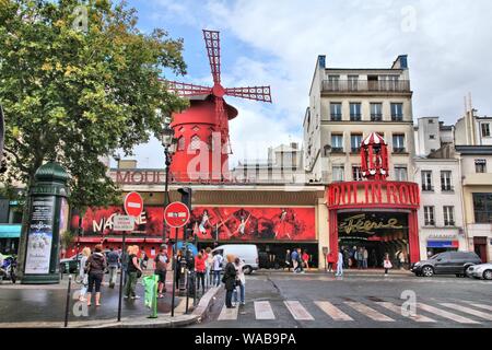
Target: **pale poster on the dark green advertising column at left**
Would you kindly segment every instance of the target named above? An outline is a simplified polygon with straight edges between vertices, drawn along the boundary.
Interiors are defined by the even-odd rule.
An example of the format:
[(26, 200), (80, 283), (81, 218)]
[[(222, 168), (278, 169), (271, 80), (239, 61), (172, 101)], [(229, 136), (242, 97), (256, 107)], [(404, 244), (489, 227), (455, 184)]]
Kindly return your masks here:
[(49, 273), (54, 230), (55, 197), (35, 197), (27, 231), (25, 273)]

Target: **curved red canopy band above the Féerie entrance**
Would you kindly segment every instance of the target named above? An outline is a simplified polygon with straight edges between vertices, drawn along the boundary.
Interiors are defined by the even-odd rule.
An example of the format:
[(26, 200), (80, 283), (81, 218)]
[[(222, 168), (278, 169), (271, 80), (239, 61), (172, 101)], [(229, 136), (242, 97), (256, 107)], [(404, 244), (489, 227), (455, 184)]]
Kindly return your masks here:
[(328, 207), (348, 208), (405, 208), (420, 207), (420, 189), (414, 183), (353, 182), (332, 184), (327, 190)]

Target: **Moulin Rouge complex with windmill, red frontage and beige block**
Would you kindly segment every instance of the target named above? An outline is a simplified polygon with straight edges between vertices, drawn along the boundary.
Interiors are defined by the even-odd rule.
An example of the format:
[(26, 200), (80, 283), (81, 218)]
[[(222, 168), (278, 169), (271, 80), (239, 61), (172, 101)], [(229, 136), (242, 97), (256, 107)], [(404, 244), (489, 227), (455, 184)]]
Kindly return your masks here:
[[(213, 86), (168, 82), (190, 98), (190, 108), (173, 116), (171, 200), (179, 200), (178, 188), (192, 188), (189, 230), (199, 247), (254, 243), (270, 261), (283, 261), (286, 249), (301, 247), (320, 268), (324, 253), (355, 247), (367, 249), (370, 267), (380, 267), (386, 253), (419, 260), (420, 189), (409, 178), (414, 150), (407, 57), (389, 69), (355, 70), (327, 69), (319, 57), (302, 152), (292, 145), (266, 164), (230, 170), (229, 122), (237, 110), (224, 97), (271, 102), (270, 88), (223, 88), (219, 33), (204, 31), (204, 39)], [(128, 242), (152, 256), (169, 238), (163, 225), (164, 170), (120, 161), (110, 175), (125, 194), (142, 195), (144, 212)], [(120, 206), (87, 210), (80, 245), (120, 247), (112, 219), (122, 212)]]

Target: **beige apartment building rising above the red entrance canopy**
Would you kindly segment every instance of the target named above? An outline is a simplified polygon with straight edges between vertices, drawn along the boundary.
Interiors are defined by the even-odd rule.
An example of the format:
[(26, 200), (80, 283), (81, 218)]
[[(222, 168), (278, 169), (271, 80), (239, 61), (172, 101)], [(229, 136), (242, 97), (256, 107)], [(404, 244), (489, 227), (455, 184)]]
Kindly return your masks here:
[(327, 68), (319, 56), (304, 118), (307, 180), (361, 179), (359, 147), (371, 132), (389, 144), (390, 180), (413, 174), (412, 91), (407, 56), (390, 68)]

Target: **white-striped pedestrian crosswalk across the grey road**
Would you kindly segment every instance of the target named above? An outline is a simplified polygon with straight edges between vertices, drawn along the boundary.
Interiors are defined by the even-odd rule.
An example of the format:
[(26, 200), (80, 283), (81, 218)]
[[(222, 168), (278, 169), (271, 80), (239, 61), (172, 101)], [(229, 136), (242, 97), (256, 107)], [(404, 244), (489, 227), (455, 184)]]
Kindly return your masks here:
[[(375, 322), (391, 324), (395, 322), (414, 322), (417, 324), (437, 324), (452, 322), (458, 325), (478, 325), (492, 322), (492, 305), (468, 301), (417, 303), (412, 310), (402, 307), (398, 301), (253, 301), (238, 307), (222, 307), (218, 320), (238, 320), (243, 315), (254, 315), (256, 320), (276, 320), (290, 315), (294, 320), (313, 322), (321, 317), (340, 323)], [(251, 312), (247, 312), (247, 310)], [(411, 307), (410, 307), (411, 308)]]

